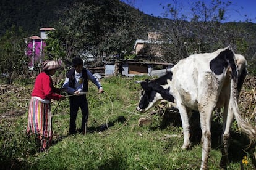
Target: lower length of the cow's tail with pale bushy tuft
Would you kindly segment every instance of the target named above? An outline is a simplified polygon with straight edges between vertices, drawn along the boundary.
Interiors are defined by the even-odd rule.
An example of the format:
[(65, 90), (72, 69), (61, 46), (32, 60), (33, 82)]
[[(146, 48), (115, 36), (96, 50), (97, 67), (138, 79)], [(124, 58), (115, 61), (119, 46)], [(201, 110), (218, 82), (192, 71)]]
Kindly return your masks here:
[(252, 142), (255, 142), (256, 139), (256, 127), (252, 126), (252, 124), (245, 121), (245, 119), (242, 118), (241, 113), (239, 111), (239, 107), (237, 104), (238, 100), (238, 93), (237, 93), (237, 79), (231, 78), (231, 98), (230, 98), (229, 104), (231, 104), (231, 112), (234, 113), (234, 116), (236, 118), (238, 127), (241, 129), (241, 132), (246, 134)]

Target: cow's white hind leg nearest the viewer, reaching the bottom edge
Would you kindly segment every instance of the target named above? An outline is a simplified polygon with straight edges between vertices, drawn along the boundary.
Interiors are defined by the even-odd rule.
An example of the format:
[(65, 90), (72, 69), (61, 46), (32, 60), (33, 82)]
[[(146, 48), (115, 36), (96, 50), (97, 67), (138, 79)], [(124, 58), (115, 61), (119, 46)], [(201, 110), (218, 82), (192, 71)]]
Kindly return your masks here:
[(208, 169), (207, 163), (211, 149), (211, 118), (213, 108), (213, 105), (206, 104), (204, 104), (202, 108), (199, 108), (202, 130), (202, 162), (200, 169)]

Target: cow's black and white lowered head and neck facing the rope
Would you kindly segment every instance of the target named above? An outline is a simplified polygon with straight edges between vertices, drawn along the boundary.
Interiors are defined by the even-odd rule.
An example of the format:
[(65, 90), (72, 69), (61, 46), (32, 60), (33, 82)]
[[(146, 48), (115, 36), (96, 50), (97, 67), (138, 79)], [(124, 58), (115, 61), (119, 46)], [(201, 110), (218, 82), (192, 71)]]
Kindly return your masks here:
[(170, 93), (171, 73), (156, 80), (137, 81), (142, 86), (138, 111), (144, 112), (153, 107), (159, 100), (174, 102), (174, 97)]

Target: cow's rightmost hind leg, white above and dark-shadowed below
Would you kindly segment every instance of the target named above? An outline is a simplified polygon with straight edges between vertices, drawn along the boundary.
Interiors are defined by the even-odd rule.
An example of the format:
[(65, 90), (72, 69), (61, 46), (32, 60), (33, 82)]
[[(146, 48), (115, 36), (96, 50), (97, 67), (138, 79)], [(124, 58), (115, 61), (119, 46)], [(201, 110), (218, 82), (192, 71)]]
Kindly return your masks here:
[(234, 114), (231, 110), (228, 109), (228, 104), (224, 105), (224, 114), (223, 114), (223, 133), (221, 140), (223, 142), (223, 147), (221, 148), (221, 163), (220, 166), (226, 168), (228, 161), (228, 148), (229, 148), (229, 138), (230, 138), (230, 129), (233, 123)]

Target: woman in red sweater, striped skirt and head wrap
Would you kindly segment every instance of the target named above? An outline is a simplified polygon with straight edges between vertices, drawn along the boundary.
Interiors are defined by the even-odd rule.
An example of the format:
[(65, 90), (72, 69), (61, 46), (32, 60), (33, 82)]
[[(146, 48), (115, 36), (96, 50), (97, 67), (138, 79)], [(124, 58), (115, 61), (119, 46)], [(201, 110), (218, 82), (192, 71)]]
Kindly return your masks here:
[(41, 142), (41, 152), (51, 145), (53, 138), (51, 99), (65, 99), (64, 95), (60, 95), (61, 89), (53, 87), (51, 79), (58, 66), (56, 61), (48, 60), (42, 63), (43, 72), (36, 76), (30, 99), (27, 133), (30, 134), (32, 132), (37, 135)]

